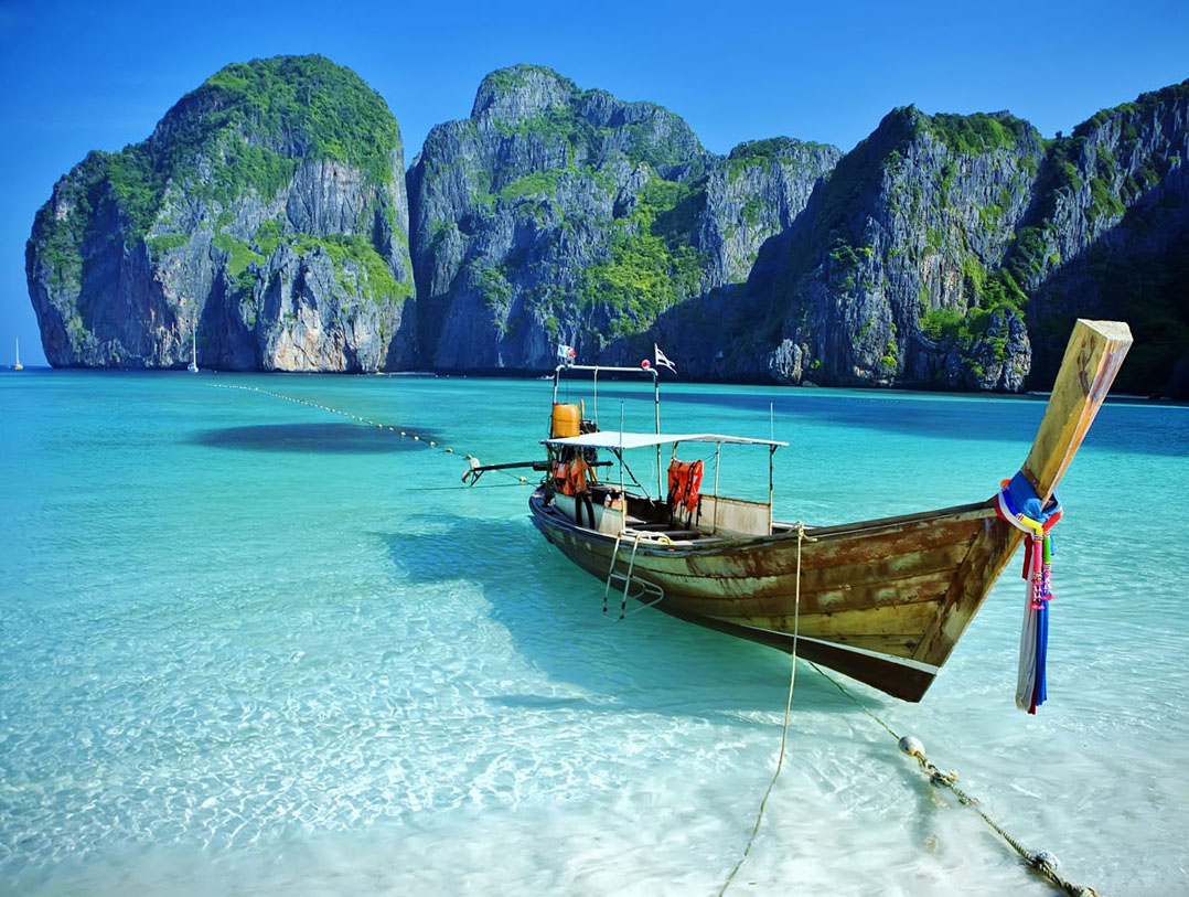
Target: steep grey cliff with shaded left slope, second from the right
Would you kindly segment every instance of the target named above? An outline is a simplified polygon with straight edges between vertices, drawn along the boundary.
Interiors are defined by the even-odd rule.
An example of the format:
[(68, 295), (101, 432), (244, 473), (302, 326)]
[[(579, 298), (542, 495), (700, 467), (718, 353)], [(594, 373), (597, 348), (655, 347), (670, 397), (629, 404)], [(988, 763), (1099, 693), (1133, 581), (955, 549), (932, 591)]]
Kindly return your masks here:
[(990, 281), (1042, 157), (1007, 113), (891, 113), (766, 247), (761, 326), (728, 360), (793, 383), (1020, 389), (1026, 328)]

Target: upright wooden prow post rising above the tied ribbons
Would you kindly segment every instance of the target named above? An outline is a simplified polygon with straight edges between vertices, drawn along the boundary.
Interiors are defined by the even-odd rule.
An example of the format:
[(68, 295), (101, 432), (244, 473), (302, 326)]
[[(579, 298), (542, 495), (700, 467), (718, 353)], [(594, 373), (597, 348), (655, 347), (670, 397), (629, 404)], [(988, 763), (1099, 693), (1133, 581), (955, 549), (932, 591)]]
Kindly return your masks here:
[(1078, 318), (1074, 325), (1049, 407), (1021, 468), (1042, 501), (1049, 501), (1074, 459), (1131, 343), (1131, 328), (1122, 321)]

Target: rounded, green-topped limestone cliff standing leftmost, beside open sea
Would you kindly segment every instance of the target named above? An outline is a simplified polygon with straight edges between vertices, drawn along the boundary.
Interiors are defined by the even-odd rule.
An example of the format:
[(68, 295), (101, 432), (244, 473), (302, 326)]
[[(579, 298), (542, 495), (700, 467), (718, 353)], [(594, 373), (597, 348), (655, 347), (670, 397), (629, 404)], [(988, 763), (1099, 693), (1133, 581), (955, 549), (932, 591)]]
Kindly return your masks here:
[(396, 119), (321, 57), (233, 64), (93, 152), (26, 249), (54, 365), (369, 371), (416, 352)]

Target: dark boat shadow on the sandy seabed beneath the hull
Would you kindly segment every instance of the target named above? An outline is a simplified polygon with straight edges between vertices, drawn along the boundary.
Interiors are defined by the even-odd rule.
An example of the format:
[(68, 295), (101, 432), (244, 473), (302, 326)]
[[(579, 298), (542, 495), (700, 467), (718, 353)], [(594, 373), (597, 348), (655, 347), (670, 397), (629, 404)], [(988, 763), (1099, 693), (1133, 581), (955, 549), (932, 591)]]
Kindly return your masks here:
[[(504, 627), (526, 661), (551, 679), (577, 685), (586, 698), (501, 695), (509, 707), (625, 707), (674, 716), (749, 720), (749, 711), (779, 711), (788, 695), (788, 657), (666, 614), (631, 614), (617, 622), (621, 592), (611, 589), (603, 614), (603, 585), (534, 538), (531, 521), (472, 516), (413, 518), (409, 529), (376, 533), (388, 546), (395, 577), (434, 590), (465, 581), (480, 591), (474, 608)], [(460, 546), (466, 546), (460, 550)], [(804, 672), (804, 669), (803, 669)], [(674, 695), (680, 697), (674, 700)], [(881, 704), (881, 697), (874, 697)], [(854, 704), (820, 677), (798, 677), (797, 703), (816, 711), (854, 711)], [(743, 715), (741, 715), (743, 714)]]

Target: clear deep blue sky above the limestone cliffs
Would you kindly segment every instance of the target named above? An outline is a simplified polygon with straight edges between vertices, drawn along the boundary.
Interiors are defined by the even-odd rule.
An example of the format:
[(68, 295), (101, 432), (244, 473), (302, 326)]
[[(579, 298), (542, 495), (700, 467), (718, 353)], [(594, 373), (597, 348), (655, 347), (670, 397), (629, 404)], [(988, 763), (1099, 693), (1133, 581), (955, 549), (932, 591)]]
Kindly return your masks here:
[(401, 123), (405, 162), (464, 118), (483, 76), (551, 65), (579, 87), (650, 100), (703, 144), (787, 134), (851, 149), (893, 107), (1009, 109), (1046, 137), (1189, 77), (1189, 4), (226, 4), (0, 0), (0, 364), (42, 364), (25, 240), (89, 150), (146, 138), (222, 65), (320, 52)]

